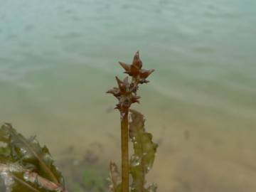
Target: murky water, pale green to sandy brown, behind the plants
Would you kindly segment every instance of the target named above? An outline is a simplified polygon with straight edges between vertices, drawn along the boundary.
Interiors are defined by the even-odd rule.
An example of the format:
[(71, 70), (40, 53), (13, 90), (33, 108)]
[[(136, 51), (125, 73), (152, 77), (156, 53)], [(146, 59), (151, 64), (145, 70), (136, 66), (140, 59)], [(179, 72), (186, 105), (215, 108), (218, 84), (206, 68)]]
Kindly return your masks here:
[[(105, 91), (140, 50), (161, 192), (255, 191), (256, 2), (0, 0), (0, 121), (57, 159), (97, 144), (119, 159)], [(107, 167), (106, 167), (107, 169)]]

